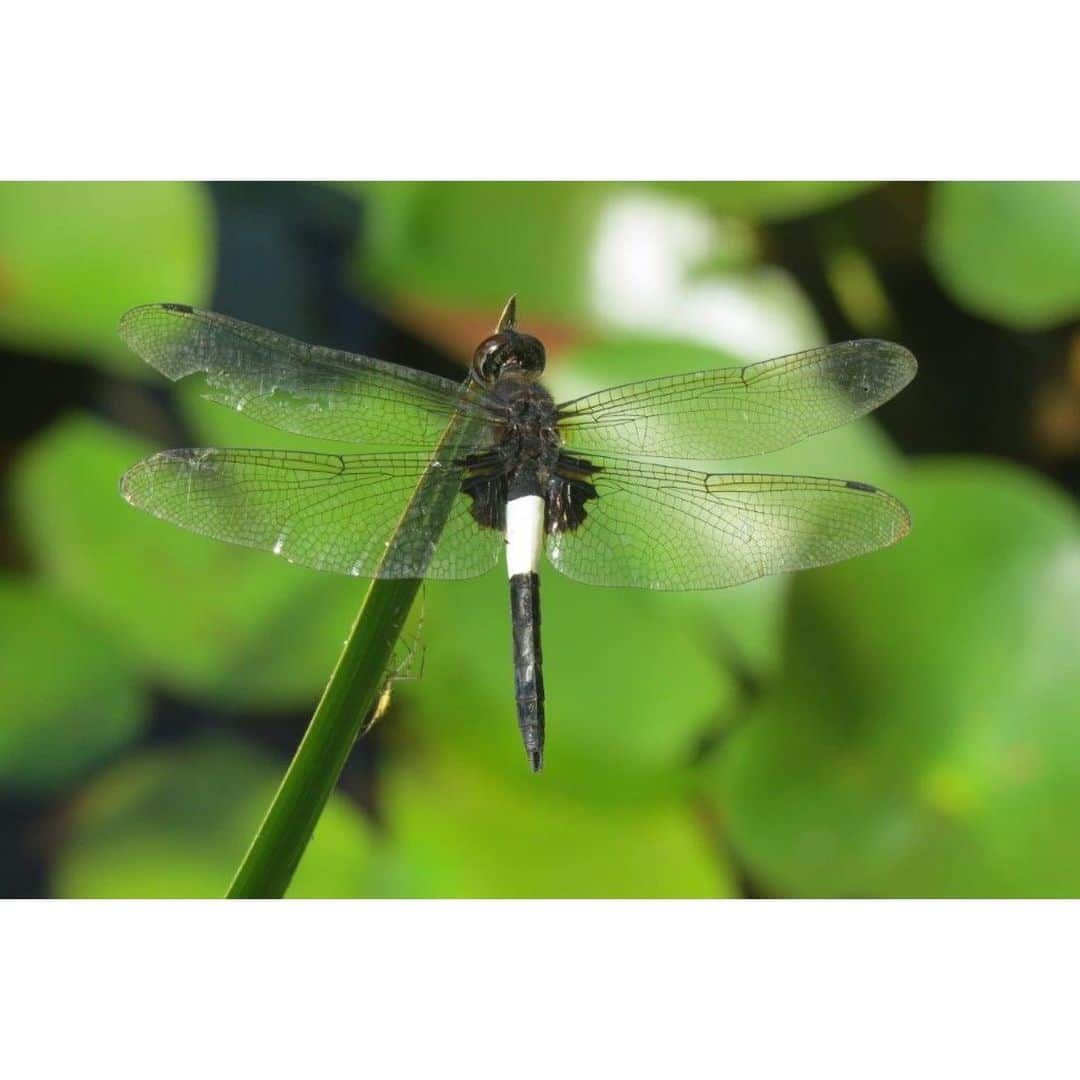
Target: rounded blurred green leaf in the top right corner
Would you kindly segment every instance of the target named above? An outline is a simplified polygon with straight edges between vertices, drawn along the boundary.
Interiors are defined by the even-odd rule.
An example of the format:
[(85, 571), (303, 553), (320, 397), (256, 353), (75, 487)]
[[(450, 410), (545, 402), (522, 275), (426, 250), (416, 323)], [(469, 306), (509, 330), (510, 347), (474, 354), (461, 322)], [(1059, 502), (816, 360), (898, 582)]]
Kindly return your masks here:
[(961, 306), (1017, 329), (1080, 315), (1080, 184), (935, 184), (927, 253)]

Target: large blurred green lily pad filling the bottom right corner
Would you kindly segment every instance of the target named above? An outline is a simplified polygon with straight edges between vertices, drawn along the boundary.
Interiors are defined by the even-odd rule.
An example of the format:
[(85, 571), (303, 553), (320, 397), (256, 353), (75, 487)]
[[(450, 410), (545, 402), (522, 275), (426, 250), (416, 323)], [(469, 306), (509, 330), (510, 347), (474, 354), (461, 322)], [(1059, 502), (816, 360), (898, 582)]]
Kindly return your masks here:
[(920, 463), (895, 549), (801, 575), (783, 677), (711, 774), (770, 889), (1080, 889), (1080, 515), (1034, 474)]

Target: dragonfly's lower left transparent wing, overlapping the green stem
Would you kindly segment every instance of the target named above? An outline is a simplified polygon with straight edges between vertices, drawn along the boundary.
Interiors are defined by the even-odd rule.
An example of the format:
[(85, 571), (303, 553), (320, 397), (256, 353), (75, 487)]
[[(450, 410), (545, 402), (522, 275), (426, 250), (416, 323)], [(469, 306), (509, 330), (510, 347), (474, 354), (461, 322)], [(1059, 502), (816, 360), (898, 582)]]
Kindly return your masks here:
[[(134, 507), (174, 525), (271, 551), (316, 570), (380, 578), (472, 578), (489, 570), (502, 536), (480, 528), (460, 471), (441, 467), (441, 490), (413, 502), (426, 454), (291, 450), (165, 450), (138, 462), (121, 490)], [(449, 516), (432, 553), (426, 515), (442, 497)], [(404, 541), (383, 561), (403, 515)]]

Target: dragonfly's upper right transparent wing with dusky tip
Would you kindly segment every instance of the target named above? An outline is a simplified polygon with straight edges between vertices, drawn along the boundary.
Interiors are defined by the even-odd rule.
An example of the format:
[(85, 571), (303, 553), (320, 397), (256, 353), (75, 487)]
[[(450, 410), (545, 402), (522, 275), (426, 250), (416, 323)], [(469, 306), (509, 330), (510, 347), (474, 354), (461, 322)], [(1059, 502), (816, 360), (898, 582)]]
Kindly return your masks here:
[(591, 454), (730, 459), (847, 423), (915, 377), (891, 341), (846, 341), (748, 367), (646, 379), (559, 406), (568, 447)]

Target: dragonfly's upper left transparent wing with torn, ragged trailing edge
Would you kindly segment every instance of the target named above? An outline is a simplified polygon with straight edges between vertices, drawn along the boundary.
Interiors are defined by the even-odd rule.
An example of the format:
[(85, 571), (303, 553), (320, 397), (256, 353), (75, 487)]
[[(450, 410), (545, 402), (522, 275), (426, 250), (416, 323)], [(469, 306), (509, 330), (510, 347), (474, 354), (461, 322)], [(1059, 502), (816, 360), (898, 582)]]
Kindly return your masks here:
[[(204, 396), (298, 435), (377, 446), (433, 446), (461, 388), (384, 361), (305, 345), (178, 303), (133, 308), (120, 336), (171, 379), (202, 373)], [(475, 432), (477, 443), (489, 432)]]

